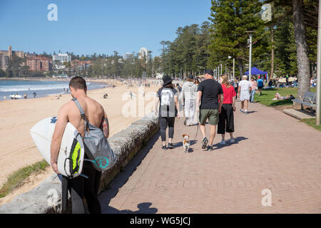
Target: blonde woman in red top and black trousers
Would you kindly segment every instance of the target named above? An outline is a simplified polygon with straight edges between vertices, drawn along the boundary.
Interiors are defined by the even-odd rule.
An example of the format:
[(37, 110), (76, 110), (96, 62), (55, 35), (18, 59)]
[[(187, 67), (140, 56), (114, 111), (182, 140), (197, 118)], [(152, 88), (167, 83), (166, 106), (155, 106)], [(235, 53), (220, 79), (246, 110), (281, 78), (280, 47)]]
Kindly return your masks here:
[(228, 76), (223, 75), (220, 77), (220, 83), (223, 88), (223, 105), (222, 111), (218, 120), (218, 134), (222, 135), (221, 145), (225, 145), (225, 132), (230, 133), (230, 143), (235, 142), (233, 138), (234, 133), (234, 114), (235, 109), (235, 90), (228, 82)]

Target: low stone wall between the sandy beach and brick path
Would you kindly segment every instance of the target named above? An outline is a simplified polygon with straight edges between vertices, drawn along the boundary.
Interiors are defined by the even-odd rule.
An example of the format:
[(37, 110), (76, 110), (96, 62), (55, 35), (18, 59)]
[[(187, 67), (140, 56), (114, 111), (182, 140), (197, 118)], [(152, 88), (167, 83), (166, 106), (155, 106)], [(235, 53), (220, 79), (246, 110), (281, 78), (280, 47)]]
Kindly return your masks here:
[[(108, 183), (113, 180), (122, 167), (141, 150), (148, 140), (159, 130), (158, 118), (153, 113), (146, 115), (128, 128), (113, 135), (108, 142), (118, 155), (118, 162), (101, 175), (99, 192), (106, 190)], [(14, 198), (12, 202), (0, 207), (0, 214), (46, 214), (61, 212), (61, 181), (52, 175), (33, 190)]]

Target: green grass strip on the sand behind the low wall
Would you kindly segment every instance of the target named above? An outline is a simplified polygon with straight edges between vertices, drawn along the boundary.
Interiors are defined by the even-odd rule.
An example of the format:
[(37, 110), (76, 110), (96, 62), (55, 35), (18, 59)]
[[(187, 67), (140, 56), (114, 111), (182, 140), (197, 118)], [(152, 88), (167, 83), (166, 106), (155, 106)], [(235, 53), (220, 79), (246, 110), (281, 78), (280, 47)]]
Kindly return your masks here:
[(22, 167), (13, 174), (11, 174), (4, 185), (0, 189), (0, 198), (5, 197), (10, 192), (14, 191), (16, 188), (21, 187), (24, 183), (26, 177), (29, 177), (31, 174), (45, 170), (49, 164), (45, 160), (36, 162), (34, 165), (29, 165)]

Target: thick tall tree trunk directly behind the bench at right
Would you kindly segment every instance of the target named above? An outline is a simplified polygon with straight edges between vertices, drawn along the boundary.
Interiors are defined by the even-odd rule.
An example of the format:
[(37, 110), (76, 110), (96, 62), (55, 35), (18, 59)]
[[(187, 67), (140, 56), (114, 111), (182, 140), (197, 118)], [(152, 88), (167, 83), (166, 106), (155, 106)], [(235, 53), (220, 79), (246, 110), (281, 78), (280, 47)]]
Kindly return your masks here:
[(302, 0), (293, 0), (293, 26), (295, 43), (297, 45), (297, 73), (299, 81), (297, 95), (303, 96), (306, 91), (310, 91), (310, 66), (307, 56)]

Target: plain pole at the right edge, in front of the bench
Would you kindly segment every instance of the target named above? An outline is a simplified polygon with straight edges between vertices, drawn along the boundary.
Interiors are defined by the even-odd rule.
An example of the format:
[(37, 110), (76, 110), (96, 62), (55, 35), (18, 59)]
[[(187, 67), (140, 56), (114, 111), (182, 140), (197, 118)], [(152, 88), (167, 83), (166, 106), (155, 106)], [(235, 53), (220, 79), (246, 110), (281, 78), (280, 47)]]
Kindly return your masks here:
[(319, 0), (319, 20), (317, 26), (317, 107), (315, 125), (321, 123), (321, 0)]

